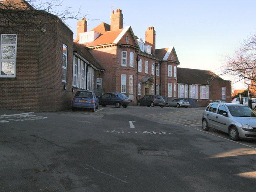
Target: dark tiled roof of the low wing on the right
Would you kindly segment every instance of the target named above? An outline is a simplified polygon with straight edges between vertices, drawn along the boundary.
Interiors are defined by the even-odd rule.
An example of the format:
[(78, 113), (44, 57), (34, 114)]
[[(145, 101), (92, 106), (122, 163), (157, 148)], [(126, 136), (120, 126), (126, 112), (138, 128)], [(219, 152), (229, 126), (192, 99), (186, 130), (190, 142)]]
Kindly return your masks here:
[(221, 80), (224, 79), (217, 76), (215, 73), (209, 70), (199, 70), (199, 69), (189, 69), (189, 68), (177, 68), (177, 83), (184, 84), (200, 84), (200, 85), (210, 85), (211, 80)]

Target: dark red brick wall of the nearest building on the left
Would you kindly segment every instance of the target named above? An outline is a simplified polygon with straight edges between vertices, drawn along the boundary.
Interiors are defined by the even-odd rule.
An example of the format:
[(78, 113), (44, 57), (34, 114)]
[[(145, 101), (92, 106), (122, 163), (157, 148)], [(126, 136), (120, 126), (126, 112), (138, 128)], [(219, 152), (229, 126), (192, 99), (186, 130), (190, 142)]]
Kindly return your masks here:
[[(0, 108), (56, 111), (71, 107), (73, 33), (62, 23), (46, 32), (18, 34), (16, 77), (0, 78)], [(11, 31), (0, 30), (0, 34)], [(62, 83), (62, 44), (68, 46), (67, 86)]]

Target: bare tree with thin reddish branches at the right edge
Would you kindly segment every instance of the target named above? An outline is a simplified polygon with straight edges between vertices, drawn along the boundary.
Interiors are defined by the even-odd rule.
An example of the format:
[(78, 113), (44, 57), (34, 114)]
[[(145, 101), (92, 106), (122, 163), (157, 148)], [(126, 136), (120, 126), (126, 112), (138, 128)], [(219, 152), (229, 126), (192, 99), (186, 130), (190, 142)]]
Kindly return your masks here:
[(247, 37), (235, 50), (234, 56), (226, 56), (223, 74), (231, 74), (243, 80), (245, 84), (255, 87), (256, 82), (256, 34)]

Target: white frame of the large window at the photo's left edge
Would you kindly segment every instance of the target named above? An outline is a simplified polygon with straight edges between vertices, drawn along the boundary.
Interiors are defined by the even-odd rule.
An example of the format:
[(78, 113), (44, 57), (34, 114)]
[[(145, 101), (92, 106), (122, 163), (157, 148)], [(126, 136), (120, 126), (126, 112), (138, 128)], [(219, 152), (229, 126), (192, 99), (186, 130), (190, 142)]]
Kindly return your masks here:
[[(2, 44), (2, 36), (3, 35), (15, 35), (16, 36), (16, 44)], [(16, 77), (16, 56), (17, 56), (17, 41), (18, 41), (18, 36), (17, 34), (1, 34), (0, 37), (0, 77), (4, 78), (13, 78)], [(2, 46), (14, 46), (15, 51), (14, 51), (14, 59), (2, 59)], [(14, 74), (13, 75), (1, 75), (2, 73), (2, 62), (14, 62)]]

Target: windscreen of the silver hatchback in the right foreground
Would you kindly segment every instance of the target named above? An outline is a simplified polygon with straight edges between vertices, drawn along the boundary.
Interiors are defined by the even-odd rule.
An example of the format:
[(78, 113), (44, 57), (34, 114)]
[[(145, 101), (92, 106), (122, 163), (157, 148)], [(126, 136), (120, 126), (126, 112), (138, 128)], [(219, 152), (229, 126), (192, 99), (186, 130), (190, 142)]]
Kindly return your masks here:
[(256, 113), (247, 106), (228, 106), (228, 110), (234, 117), (256, 117)]

